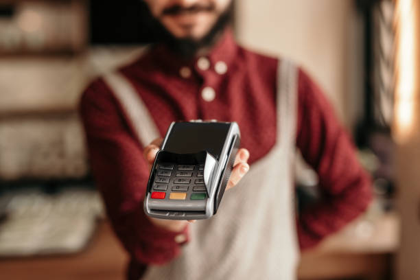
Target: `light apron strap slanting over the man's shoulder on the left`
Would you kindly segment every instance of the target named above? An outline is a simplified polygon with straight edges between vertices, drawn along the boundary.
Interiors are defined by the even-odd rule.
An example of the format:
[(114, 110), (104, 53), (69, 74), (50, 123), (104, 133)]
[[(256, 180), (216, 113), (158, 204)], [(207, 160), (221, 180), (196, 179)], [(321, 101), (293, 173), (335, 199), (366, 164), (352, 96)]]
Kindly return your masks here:
[(115, 71), (106, 73), (104, 81), (124, 109), (128, 121), (135, 130), (137, 139), (143, 147), (161, 136), (139, 93), (124, 75)]

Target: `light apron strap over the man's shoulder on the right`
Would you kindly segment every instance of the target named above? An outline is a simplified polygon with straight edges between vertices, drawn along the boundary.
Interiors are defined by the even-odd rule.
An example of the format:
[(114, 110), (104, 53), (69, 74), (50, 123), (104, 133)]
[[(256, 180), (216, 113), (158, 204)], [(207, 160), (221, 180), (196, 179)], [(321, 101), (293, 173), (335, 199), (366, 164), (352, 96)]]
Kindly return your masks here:
[(290, 149), (296, 139), (298, 67), (290, 60), (279, 60), (277, 79), (277, 139)]

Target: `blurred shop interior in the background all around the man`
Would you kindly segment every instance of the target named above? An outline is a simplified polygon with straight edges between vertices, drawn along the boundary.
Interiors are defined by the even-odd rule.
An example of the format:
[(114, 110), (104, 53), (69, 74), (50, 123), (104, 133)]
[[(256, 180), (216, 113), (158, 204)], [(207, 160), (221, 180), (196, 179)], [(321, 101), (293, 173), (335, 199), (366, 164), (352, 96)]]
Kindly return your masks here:
[[(123, 279), (89, 172), (84, 87), (151, 43), (137, 0), (0, 0), (0, 278)], [(420, 4), (237, 0), (237, 39), (301, 63), (373, 176), (362, 218), (301, 256), (299, 279), (420, 279)], [(420, 77), (419, 77), (420, 78)], [(316, 201), (299, 165), (299, 207)]]

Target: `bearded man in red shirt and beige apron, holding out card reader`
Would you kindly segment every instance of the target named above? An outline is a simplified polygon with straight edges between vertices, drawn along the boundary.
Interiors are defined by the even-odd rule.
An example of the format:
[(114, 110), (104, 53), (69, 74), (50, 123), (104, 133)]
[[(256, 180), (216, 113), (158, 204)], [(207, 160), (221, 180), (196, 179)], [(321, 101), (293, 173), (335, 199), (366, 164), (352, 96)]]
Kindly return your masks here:
[[(93, 175), (131, 257), (128, 278), (293, 279), (295, 236), (301, 250), (310, 248), (371, 199), (347, 133), (302, 69), (235, 43), (227, 26), (231, 0), (145, 3), (161, 41), (116, 75), (95, 80), (80, 103)], [(150, 141), (172, 121), (189, 119), (239, 124), (244, 148), (231, 189), (209, 220), (148, 218), (143, 198), (161, 139)], [(296, 220), (295, 146), (323, 194)]]

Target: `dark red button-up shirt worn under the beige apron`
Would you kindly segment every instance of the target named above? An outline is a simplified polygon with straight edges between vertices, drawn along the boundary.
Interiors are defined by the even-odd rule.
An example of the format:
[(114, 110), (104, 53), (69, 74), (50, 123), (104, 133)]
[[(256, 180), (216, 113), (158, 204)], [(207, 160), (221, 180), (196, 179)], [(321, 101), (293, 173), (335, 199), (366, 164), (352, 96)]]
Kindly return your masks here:
[[(175, 120), (237, 121), (241, 146), (250, 151), (252, 168), (276, 141), (278, 59), (238, 46), (230, 30), (204, 58), (183, 60), (156, 45), (119, 71), (148, 106), (162, 137)], [(302, 69), (298, 83), (296, 146), (318, 173), (325, 198), (296, 219), (299, 244), (305, 249), (362, 213), (371, 190), (369, 176), (322, 91)], [(207, 93), (203, 94), (204, 89)], [(101, 78), (82, 95), (80, 113), (93, 176), (113, 229), (132, 257), (130, 276), (134, 279), (147, 264), (163, 264), (176, 257), (182, 244), (175, 237), (184, 234), (188, 242), (188, 226), (182, 233), (173, 233), (145, 217), (149, 172), (143, 147)]]

